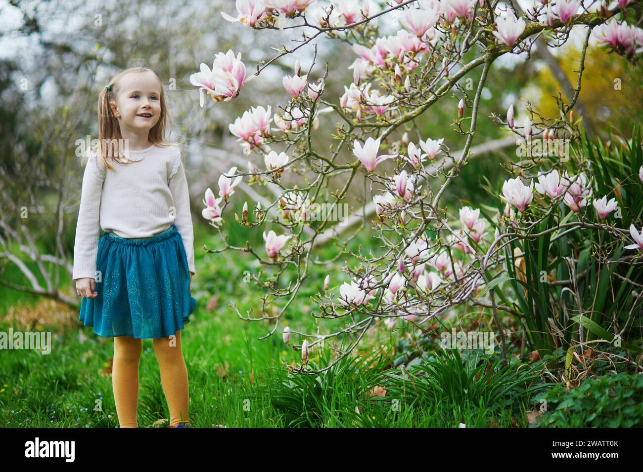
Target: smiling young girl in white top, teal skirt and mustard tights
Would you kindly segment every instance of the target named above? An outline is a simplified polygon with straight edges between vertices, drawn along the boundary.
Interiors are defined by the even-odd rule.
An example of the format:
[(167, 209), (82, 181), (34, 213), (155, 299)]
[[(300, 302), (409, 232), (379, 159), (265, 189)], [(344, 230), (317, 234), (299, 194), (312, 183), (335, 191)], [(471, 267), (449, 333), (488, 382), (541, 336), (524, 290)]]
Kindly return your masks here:
[(194, 236), (181, 151), (165, 140), (168, 119), (153, 71), (116, 74), (98, 98), (100, 144), (87, 153), (82, 183), (72, 277), (82, 297), (78, 320), (114, 338), (121, 428), (138, 428), (142, 338), (153, 338), (169, 427), (188, 425), (181, 329), (196, 304)]

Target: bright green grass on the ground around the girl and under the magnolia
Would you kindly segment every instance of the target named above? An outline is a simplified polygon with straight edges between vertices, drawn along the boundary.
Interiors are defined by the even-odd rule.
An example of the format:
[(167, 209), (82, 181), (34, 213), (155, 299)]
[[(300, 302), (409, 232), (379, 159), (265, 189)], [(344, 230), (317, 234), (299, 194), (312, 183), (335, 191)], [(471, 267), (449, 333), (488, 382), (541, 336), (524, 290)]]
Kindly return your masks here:
[[(245, 236), (241, 231), (235, 235), (238, 240)], [(527, 412), (537, 405), (537, 365), (511, 359), (508, 367), (502, 367), (497, 353), (491, 357), (470, 353), (462, 358), (451, 351), (440, 354), (439, 343), (430, 337), (416, 344), (411, 342), (415, 336), (409, 338), (403, 330), (369, 334), (359, 353), (317, 376), (289, 373), (284, 363), (300, 363), (301, 354), (284, 344), (282, 329), (291, 325), (316, 332), (317, 320), (310, 315), (316, 305), (309, 296), (321, 290), (326, 271), (333, 274), (331, 290), (335, 291), (347, 276), (312, 265), (310, 282), (303, 286), (297, 304), (285, 313), (275, 335), (258, 340), (273, 326), (240, 320), (228, 306), (235, 302), (242, 315), (252, 308), (251, 316), (260, 316), (258, 300), (263, 292), (243, 281), (246, 270), (258, 268), (248, 254), (203, 254), (204, 244), (218, 247), (212, 231), (195, 225), (198, 277), (193, 295), (199, 302), (181, 334), (193, 426), (528, 426)], [(334, 252), (330, 249), (325, 256)], [(6, 288), (0, 293), (6, 293)], [(206, 311), (212, 295), (219, 296), (217, 308)], [(15, 293), (12, 297), (12, 303), (26, 299)], [(343, 326), (343, 321), (326, 320), (319, 326), (327, 332)], [(8, 320), (0, 317), (0, 331), (9, 327)], [(0, 427), (118, 426), (111, 374), (105, 372), (113, 356), (113, 340), (81, 328), (76, 319), (64, 326), (38, 329), (52, 331), (50, 354), (0, 350)], [(85, 339), (80, 338), (80, 331)], [(299, 342), (294, 336), (291, 339)], [(329, 349), (311, 350), (309, 367), (321, 368), (330, 362)], [(401, 369), (403, 363), (406, 372)], [(138, 423), (150, 427), (167, 417), (152, 340), (143, 340)]]

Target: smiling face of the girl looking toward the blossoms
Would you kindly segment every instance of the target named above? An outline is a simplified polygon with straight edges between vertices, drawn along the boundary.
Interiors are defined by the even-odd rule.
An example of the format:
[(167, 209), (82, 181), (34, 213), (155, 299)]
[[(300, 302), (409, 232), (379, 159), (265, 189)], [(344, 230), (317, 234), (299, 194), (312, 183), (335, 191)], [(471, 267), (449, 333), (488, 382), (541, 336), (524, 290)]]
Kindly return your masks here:
[(150, 130), (161, 118), (161, 85), (151, 72), (127, 74), (109, 103), (121, 130)]

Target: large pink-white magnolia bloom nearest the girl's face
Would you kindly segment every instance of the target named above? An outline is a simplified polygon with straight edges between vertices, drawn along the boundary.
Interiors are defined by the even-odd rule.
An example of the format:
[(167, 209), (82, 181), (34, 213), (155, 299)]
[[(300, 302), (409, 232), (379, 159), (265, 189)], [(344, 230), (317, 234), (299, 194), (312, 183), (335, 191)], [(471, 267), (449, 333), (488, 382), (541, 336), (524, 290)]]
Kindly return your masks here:
[(255, 74), (246, 77), (246, 66), (241, 62), (241, 53), (235, 57), (232, 49), (228, 49), (227, 53), (215, 56), (212, 70), (201, 62), (201, 72), (190, 75), (190, 83), (201, 87), (199, 104), (203, 107), (206, 93), (216, 101), (229, 101), (239, 95), (242, 85), (255, 77)]

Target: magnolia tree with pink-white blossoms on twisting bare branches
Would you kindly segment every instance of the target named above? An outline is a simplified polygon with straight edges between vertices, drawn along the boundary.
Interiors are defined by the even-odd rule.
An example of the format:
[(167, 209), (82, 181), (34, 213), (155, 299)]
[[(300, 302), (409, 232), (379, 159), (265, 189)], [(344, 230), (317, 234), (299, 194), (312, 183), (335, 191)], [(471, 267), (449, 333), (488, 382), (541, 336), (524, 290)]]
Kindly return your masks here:
[[(572, 112), (581, 90), (591, 35), (610, 52), (624, 55), (633, 63), (637, 60), (643, 31), (629, 24), (631, 1), (541, 0), (532, 2), (526, 11), (511, 2), (489, 0), (319, 3), (237, 0), (236, 16), (221, 12), (226, 20), (255, 30), (279, 29), (286, 33), (301, 29), (300, 37), (294, 39), (300, 44), (292, 49), (284, 46), (276, 57), (259, 64), (255, 74), (247, 74), (240, 53), (230, 50), (218, 53), (212, 68), (201, 64), (201, 71), (190, 77), (190, 82), (199, 87), (203, 107), (208, 98), (233, 100), (268, 64), (320, 35), (352, 44), (352, 82), (344, 85), (341, 97), (324, 94), (327, 66), (323, 77), (315, 81), (310, 72), (302, 74), (296, 60), (294, 73), (283, 78), (290, 95), (287, 103), (275, 114), (270, 106), (258, 104), (230, 123), (230, 132), (239, 138), (244, 152), (256, 154), (257, 159), (251, 159), (247, 172), (233, 167), (221, 175), (218, 196), (208, 189), (204, 198), (203, 217), (210, 220), (222, 240), (220, 249), (208, 252), (249, 252), (269, 268), (267, 279), (253, 275), (266, 290), (261, 317), (251, 317), (249, 312), (242, 315), (231, 304), (242, 319), (271, 320), (273, 328), (266, 336), (273, 335), (285, 311), (296, 307), (293, 301), (302, 296), (302, 288), (314, 286), (318, 290), (314, 299), (318, 313), (314, 315), (345, 320), (343, 328), (331, 333), (285, 328), (281, 333), (284, 342), (294, 338), (299, 341), (295, 349), (302, 351), (302, 364), (289, 366), (291, 371), (321, 372), (349, 354), (369, 329), (392, 329), (404, 323), (421, 326), (463, 304), (491, 309), (506, 362), (506, 333), (498, 312), (520, 313), (500, 292), (499, 284), (521, 279), (514, 267), (520, 267), (527, 242), (547, 240), (545, 254), (539, 256), (547, 267), (547, 258), (551, 257), (547, 248), (552, 241), (576, 230), (592, 229), (615, 241), (608, 252), (617, 248), (628, 252), (620, 259), (622, 263), (638, 263), (635, 256), (643, 250), (640, 220), (620, 227), (622, 220), (614, 217), (619, 211), (617, 195), (596, 195), (588, 156), (582, 148), (575, 152), (575, 144), (583, 135)], [(379, 7), (377, 12), (372, 11), (375, 6)], [(317, 15), (311, 13), (314, 7), (318, 8)], [(385, 22), (399, 24), (399, 31), (379, 35), (379, 26)], [(502, 184), (502, 193), (498, 191), (498, 209), (483, 210), (483, 214), (480, 207), (471, 206), (446, 211), (440, 206), (441, 200), (449, 186), (458, 186), (458, 175), (471, 158), (480, 119), (480, 96), (494, 60), (530, 53), (539, 37), (546, 40), (547, 47), (559, 47), (574, 30), (581, 31), (584, 39), (577, 88), (568, 103), (557, 98), (559, 116), (541, 116), (528, 106), (527, 118), (514, 123), (518, 110), (511, 105), (506, 112), (498, 110), (491, 117), (515, 135), (523, 156), (520, 162), (507, 166), (514, 177)], [(465, 56), (472, 58), (464, 60)], [(315, 58), (316, 54), (309, 70)], [(460, 82), (474, 72), (479, 79), (473, 91), (467, 90)], [(453, 123), (455, 132), (463, 136), (462, 152), (451, 152), (443, 136), (416, 135), (411, 139), (403, 132), (405, 123), (454, 93), (461, 98), (453, 108)], [(338, 115), (337, 134), (333, 135), (338, 142), (314, 149), (311, 137), (318, 130), (320, 113)], [(273, 144), (289, 152), (275, 151)], [(260, 164), (253, 163), (257, 161)], [(393, 175), (383, 172), (383, 161), (394, 169)], [(287, 173), (292, 174), (289, 181), (293, 184), (284, 184)], [(313, 178), (306, 179), (309, 175)], [(643, 167), (634, 177), (640, 193)], [(324, 191), (331, 178), (341, 184), (332, 192)], [(242, 179), (272, 182), (280, 189), (270, 207), (256, 204), (249, 208), (246, 203), (240, 218), (235, 214), (240, 225), (264, 229), (265, 247), (233, 247), (222, 232), (222, 217)], [(362, 179), (375, 193), (371, 205), (375, 205), (376, 220), (370, 225), (370, 236), (383, 250), (377, 256), (345, 251), (352, 258), (344, 268), (347, 275), (339, 270), (327, 274), (322, 286), (321, 277), (310, 276), (311, 266), (333, 266), (332, 261), (320, 260), (314, 254), (318, 248), (315, 241), (326, 231), (337, 231), (341, 223), (331, 212), (320, 218), (320, 209), (345, 205), (350, 186)], [(352, 210), (355, 214), (362, 212), (359, 207)], [(362, 224), (358, 231), (364, 231), (364, 227)], [(356, 236), (344, 231), (347, 229), (337, 232), (343, 249)], [(514, 250), (508, 251), (509, 247)], [(577, 261), (572, 252), (570, 247), (568, 254), (558, 257)], [(296, 271), (296, 277), (289, 278), (284, 286), (282, 277), (289, 268)], [(546, 274), (545, 281), (547, 277), (552, 278)], [(524, 290), (527, 292), (527, 288)], [(279, 309), (269, 314), (267, 306), (271, 304)], [(334, 337), (349, 337), (347, 348), (333, 347), (337, 355), (332, 362), (311, 369), (307, 363), (309, 349)]]

